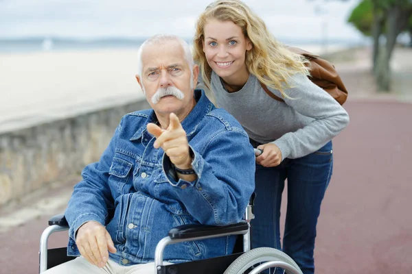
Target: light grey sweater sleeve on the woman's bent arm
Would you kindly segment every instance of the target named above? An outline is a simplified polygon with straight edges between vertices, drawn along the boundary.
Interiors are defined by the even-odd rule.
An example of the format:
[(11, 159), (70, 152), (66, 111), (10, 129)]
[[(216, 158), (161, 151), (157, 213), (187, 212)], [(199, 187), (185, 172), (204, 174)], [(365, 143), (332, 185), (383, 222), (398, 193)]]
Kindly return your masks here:
[[(280, 97), (278, 90), (269, 88)], [(306, 75), (294, 75), (290, 87), (284, 90), (289, 98), (285, 103), (299, 114), (313, 120), (295, 132), (288, 132), (273, 141), (285, 158), (301, 158), (317, 151), (349, 123), (349, 115), (343, 107), (319, 86), (313, 84)]]

